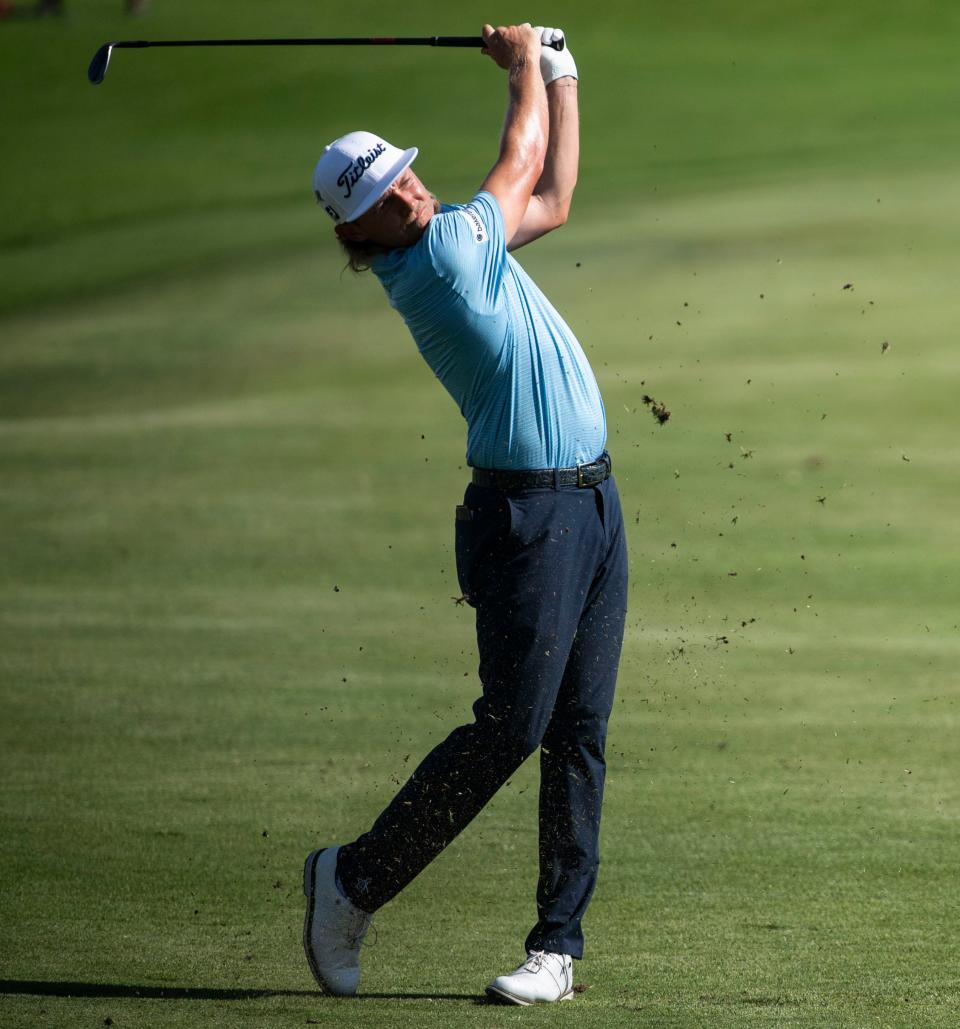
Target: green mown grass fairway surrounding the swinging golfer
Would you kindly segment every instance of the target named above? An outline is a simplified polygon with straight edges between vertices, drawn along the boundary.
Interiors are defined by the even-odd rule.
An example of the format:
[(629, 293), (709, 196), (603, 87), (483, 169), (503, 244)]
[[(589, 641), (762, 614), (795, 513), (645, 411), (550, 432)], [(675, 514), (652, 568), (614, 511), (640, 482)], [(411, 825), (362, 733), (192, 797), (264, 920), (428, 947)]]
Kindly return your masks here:
[[(0, 1026), (955, 1027), (960, 9), (120, 6), (0, 22)], [(399, 48), (86, 64), (528, 15), (569, 32), (584, 154), (520, 257), (631, 532), (588, 989), (482, 1002), (534, 917), (531, 761), (322, 998), (304, 857), (477, 680), (463, 425), (310, 173), (362, 125), (465, 199), (504, 85)]]

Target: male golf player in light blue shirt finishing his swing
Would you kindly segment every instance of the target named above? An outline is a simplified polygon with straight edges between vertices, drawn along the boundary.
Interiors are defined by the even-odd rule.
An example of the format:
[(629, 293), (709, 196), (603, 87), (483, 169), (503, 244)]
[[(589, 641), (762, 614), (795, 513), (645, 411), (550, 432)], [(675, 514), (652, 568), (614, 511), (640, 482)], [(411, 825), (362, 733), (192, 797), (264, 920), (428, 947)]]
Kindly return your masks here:
[(475, 608), (473, 720), (421, 762), (369, 831), (307, 858), (304, 946), (320, 988), (351, 995), (370, 916), (418, 876), (540, 748), (537, 921), (488, 993), (573, 996), (597, 880), (604, 744), (627, 608), (627, 545), (597, 382), (573, 332), (508, 251), (567, 218), (577, 73), (554, 29), (484, 27), (507, 72), (499, 157), (466, 205), (440, 205), (401, 150), (331, 143), (314, 190), (354, 269), (369, 268), (467, 423), (456, 510)]

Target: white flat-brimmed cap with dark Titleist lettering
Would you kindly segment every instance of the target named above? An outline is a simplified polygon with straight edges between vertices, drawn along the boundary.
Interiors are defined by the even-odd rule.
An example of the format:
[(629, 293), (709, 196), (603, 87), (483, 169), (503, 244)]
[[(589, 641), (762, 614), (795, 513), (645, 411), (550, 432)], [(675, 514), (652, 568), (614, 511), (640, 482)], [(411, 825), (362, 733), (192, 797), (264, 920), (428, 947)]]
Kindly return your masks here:
[(368, 211), (408, 168), (416, 146), (401, 150), (370, 132), (334, 139), (314, 169), (317, 203), (334, 221), (353, 221)]

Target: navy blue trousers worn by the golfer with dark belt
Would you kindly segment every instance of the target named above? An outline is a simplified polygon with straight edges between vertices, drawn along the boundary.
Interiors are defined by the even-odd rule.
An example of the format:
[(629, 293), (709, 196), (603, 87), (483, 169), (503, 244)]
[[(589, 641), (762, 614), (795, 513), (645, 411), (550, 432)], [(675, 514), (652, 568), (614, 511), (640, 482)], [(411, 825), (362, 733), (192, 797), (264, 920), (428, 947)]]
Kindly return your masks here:
[(581, 957), (600, 862), (604, 744), (627, 611), (613, 478), (577, 489), (470, 485), (457, 511), (460, 588), (476, 609), (473, 721), (423, 760), (369, 832), (341, 849), (347, 894), (394, 897), (540, 748), (537, 923), (528, 950)]

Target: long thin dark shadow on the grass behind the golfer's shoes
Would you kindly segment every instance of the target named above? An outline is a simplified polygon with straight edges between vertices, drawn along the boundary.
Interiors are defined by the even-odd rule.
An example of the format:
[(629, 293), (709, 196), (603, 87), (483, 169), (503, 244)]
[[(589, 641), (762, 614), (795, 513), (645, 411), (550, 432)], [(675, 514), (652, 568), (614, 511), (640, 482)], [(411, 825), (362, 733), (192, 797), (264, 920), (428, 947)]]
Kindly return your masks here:
[[(34, 997), (137, 997), (141, 1000), (257, 1000), (264, 997), (313, 997), (317, 990), (220, 990), (205, 986), (133, 986), (121, 983), (69, 983), (32, 979), (0, 979), (0, 995)], [(361, 993), (360, 1000), (472, 1000), (486, 1003), (475, 993)]]

